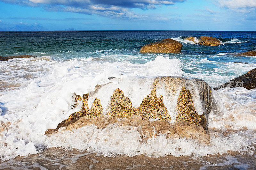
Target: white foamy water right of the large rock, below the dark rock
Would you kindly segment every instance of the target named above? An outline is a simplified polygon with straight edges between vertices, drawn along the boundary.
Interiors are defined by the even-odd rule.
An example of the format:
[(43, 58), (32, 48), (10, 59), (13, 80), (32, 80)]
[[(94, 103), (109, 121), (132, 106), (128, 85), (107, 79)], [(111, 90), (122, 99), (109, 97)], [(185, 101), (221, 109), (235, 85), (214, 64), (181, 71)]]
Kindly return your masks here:
[(218, 90), (227, 108), (223, 117), (210, 115), (209, 127), (225, 129), (256, 129), (256, 89), (244, 87), (222, 88)]

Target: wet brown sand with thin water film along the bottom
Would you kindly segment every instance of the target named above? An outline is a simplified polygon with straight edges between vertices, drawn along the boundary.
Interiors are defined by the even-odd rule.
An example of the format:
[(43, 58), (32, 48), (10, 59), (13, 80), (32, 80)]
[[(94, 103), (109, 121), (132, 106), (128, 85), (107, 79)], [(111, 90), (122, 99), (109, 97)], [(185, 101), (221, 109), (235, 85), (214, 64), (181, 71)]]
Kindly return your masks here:
[(97, 156), (95, 152), (79, 152), (61, 148), (48, 148), (43, 152), (27, 157), (16, 157), (0, 162), (0, 169), (255, 169), (254, 155), (241, 155), (228, 152), (223, 155), (166, 156), (149, 158), (143, 155), (135, 157)]

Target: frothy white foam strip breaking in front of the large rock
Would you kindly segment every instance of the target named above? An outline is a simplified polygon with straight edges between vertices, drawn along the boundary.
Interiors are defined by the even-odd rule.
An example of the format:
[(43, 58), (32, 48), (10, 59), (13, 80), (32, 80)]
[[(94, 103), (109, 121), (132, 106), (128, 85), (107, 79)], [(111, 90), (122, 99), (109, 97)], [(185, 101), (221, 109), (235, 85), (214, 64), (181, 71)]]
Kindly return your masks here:
[[(60, 129), (58, 133), (47, 138), (45, 144), (50, 147), (96, 151), (104, 156), (144, 154), (158, 158), (170, 154), (177, 157), (182, 155), (198, 157), (207, 154), (223, 154), (227, 151), (248, 153), (250, 145), (255, 143), (255, 135), (249, 135), (251, 132), (231, 133), (226, 137), (218, 132), (209, 133), (214, 133), (211, 136), (210, 145), (186, 138), (167, 139), (164, 134), (141, 141), (140, 134), (136, 130), (127, 130), (115, 124), (104, 129), (91, 125), (73, 131)], [(249, 154), (252, 153), (249, 152)]]

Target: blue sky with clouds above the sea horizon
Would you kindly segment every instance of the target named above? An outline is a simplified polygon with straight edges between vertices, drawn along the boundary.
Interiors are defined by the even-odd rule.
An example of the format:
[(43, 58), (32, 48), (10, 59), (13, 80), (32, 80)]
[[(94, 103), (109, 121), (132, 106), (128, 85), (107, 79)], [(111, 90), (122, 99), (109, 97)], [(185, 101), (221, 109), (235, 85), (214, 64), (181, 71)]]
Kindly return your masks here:
[(0, 28), (256, 31), (256, 0), (0, 0)]

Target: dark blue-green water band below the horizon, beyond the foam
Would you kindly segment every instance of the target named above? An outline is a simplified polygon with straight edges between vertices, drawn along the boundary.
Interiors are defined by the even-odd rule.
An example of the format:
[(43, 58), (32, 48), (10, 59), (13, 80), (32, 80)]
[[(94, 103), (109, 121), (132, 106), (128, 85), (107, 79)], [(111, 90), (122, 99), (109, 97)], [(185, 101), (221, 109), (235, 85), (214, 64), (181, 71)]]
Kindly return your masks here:
[[(218, 47), (207, 47), (182, 43), (182, 53), (191, 55), (214, 55), (218, 53), (234, 53), (256, 49), (256, 31), (58, 31), (58, 32), (0, 32), (0, 55), (15, 53), (49, 54), (72, 51), (77, 54), (102, 50), (134, 50), (148, 43), (165, 38), (184, 39), (187, 36), (212, 36), (220, 41), (237, 42)], [(64, 54), (61, 56), (65, 56)], [(81, 56), (81, 55), (78, 55)], [(68, 58), (78, 57), (66, 55)]]

